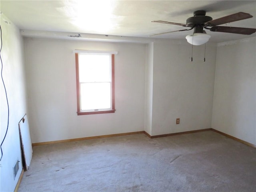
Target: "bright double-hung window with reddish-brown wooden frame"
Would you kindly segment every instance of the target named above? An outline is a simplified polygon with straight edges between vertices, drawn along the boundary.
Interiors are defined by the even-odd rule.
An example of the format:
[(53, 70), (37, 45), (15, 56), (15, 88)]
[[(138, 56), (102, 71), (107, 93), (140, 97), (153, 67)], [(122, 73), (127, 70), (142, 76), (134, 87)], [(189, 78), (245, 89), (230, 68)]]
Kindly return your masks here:
[(76, 52), (77, 114), (114, 113), (114, 54)]

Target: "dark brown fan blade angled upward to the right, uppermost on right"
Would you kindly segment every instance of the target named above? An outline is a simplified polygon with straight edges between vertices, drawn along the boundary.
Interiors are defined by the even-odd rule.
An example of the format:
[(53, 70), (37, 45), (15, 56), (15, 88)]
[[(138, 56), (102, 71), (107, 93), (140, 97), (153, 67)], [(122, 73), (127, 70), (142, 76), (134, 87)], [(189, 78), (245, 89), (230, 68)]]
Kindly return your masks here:
[(238, 12), (232, 15), (228, 15), (222, 18), (205, 22), (204, 25), (216, 26), (216, 25), (221, 25), (221, 24), (230, 23), (230, 22), (239, 21), (239, 20), (248, 19), (248, 18), (252, 18), (252, 15), (244, 12)]

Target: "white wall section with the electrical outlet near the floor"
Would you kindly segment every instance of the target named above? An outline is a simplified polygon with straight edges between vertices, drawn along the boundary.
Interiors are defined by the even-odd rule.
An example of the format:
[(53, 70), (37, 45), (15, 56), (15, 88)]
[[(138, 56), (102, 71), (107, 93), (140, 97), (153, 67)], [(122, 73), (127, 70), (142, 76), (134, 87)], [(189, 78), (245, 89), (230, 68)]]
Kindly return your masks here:
[[(152, 135), (211, 128), (216, 45), (154, 42)], [(180, 124), (176, 125), (176, 118)]]

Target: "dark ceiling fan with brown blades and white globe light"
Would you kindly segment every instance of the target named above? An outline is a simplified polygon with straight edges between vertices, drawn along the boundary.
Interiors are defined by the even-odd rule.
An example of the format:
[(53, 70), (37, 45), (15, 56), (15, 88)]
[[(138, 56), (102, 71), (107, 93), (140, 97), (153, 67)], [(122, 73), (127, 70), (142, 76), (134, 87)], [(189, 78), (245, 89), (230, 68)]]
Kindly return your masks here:
[(174, 22), (168, 22), (168, 21), (152, 21), (155, 23), (164, 23), (164, 24), (179, 25), (183, 27), (190, 27), (190, 29), (163, 32), (163, 33), (158, 33), (151, 36), (178, 32), (178, 31), (189, 31), (194, 29), (193, 34), (187, 35), (186, 39), (190, 44), (202, 45), (208, 42), (210, 38), (210, 35), (206, 34), (206, 31), (204, 29), (210, 30), (212, 32), (226, 32), (226, 33), (235, 33), (235, 34), (244, 34), (244, 35), (250, 35), (255, 33), (256, 29), (253, 29), (253, 28), (219, 26), (221, 24), (226, 24), (226, 23), (248, 19), (248, 18), (252, 18), (252, 15), (244, 12), (238, 12), (222, 18), (212, 20), (210, 16), (206, 16), (206, 11), (198, 10), (194, 12), (193, 17), (190, 17), (186, 20), (186, 24), (174, 23)]

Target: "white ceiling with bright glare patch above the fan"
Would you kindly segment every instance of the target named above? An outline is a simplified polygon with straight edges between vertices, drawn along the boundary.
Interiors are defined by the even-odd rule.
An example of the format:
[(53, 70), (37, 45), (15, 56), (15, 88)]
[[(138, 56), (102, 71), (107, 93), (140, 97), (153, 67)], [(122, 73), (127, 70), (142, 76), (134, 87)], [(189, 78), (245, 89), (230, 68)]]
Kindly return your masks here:
[[(196, 10), (213, 19), (246, 12), (253, 16), (224, 26), (256, 28), (256, 1), (153, 1), (153, 0), (1, 0), (2, 15), (22, 30), (103, 34), (148, 38), (152, 34), (186, 27), (152, 23), (152, 20), (186, 23)], [(210, 32), (210, 42), (256, 36)], [(185, 39), (192, 31), (174, 32), (154, 38)], [(56, 33), (55, 33), (56, 34)]]

